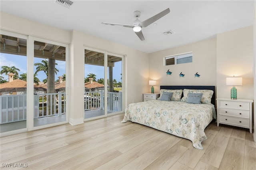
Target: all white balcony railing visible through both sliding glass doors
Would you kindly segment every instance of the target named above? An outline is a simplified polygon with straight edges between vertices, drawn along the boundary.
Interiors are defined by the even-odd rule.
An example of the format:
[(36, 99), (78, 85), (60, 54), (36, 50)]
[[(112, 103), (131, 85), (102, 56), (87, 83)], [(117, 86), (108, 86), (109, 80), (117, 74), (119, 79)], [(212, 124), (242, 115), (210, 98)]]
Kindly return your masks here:
[[(26, 94), (0, 96), (0, 124), (26, 120)], [(108, 92), (108, 111), (122, 111), (122, 92)], [(84, 111), (104, 109), (104, 91), (84, 93)], [(66, 113), (65, 93), (34, 95), (34, 119)]]

